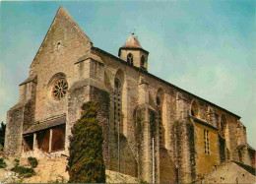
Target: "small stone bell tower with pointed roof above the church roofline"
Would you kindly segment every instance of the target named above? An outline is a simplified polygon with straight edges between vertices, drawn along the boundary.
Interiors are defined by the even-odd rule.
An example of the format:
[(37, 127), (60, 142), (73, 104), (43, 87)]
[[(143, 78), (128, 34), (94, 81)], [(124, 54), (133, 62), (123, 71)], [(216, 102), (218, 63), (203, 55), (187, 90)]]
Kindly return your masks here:
[(125, 44), (119, 48), (118, 56), (130, 65), (148, 71), (149, 52), (142, 48), (134, 33), (131, 33)]

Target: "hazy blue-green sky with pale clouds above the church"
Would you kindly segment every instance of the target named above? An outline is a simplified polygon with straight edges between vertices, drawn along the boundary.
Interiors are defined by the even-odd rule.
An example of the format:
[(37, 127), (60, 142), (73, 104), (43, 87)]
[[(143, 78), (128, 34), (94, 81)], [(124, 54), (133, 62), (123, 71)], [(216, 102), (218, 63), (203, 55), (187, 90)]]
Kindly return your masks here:
[(135, 32), (149, 72), (241, 116), (256, 148), (255, 1), (0, 2), (0, 121), (59, 8), (115, 56)]

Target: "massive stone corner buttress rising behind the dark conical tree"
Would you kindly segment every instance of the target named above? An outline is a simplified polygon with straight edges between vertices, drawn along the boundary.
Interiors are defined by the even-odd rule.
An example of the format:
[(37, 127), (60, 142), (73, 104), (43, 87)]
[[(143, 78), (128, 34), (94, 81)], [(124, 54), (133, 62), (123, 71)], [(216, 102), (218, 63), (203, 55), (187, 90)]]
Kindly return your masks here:
[[(102, 126), (104, 143), (103, 157), (108, 168), (108, 134), (109, 134), (109, 93), (104, 87), (104, 64), (92, 53), (81, 57), (74, 64), (74, 84), (68, 95), (68, 123), (67, 135), (71, 134), (73, 124), (81, 117), (81, 107), (87, 101), (96, 101), (98, 104), (97, 119)], [(69, 138), (66, 137), (66, 150)]]

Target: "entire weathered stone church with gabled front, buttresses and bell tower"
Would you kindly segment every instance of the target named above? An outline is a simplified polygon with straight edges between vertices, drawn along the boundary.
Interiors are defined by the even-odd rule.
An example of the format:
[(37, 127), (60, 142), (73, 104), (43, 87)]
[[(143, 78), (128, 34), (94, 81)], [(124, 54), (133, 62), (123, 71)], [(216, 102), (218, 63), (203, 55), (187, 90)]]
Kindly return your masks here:
[(60, 7), (7, 113), (5, 153), (68, 155), (81, 106), (94, 100), (107, 169), (173, 183), (230, 160), (255, 168), (238, 115), (150, 74), (149, 52), (133, 34), (118, 56), (95, 47)]

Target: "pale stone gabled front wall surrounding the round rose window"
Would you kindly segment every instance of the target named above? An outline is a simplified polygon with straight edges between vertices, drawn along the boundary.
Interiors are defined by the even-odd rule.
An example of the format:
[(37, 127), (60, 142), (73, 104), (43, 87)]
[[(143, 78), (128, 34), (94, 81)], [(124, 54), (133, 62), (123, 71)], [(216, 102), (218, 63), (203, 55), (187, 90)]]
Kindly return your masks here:
[[(30, 75), (37, 75), (35, 121), (66, 113), (68, 99), (51, 97), (50, 81), (63, 74), (69, 88), (74, 83), (74, 63), (89, 52), (92, 43), (64, 8), (60, 8), (36, 53)], [(58, 109), (58, 110), (56, 110)]]

